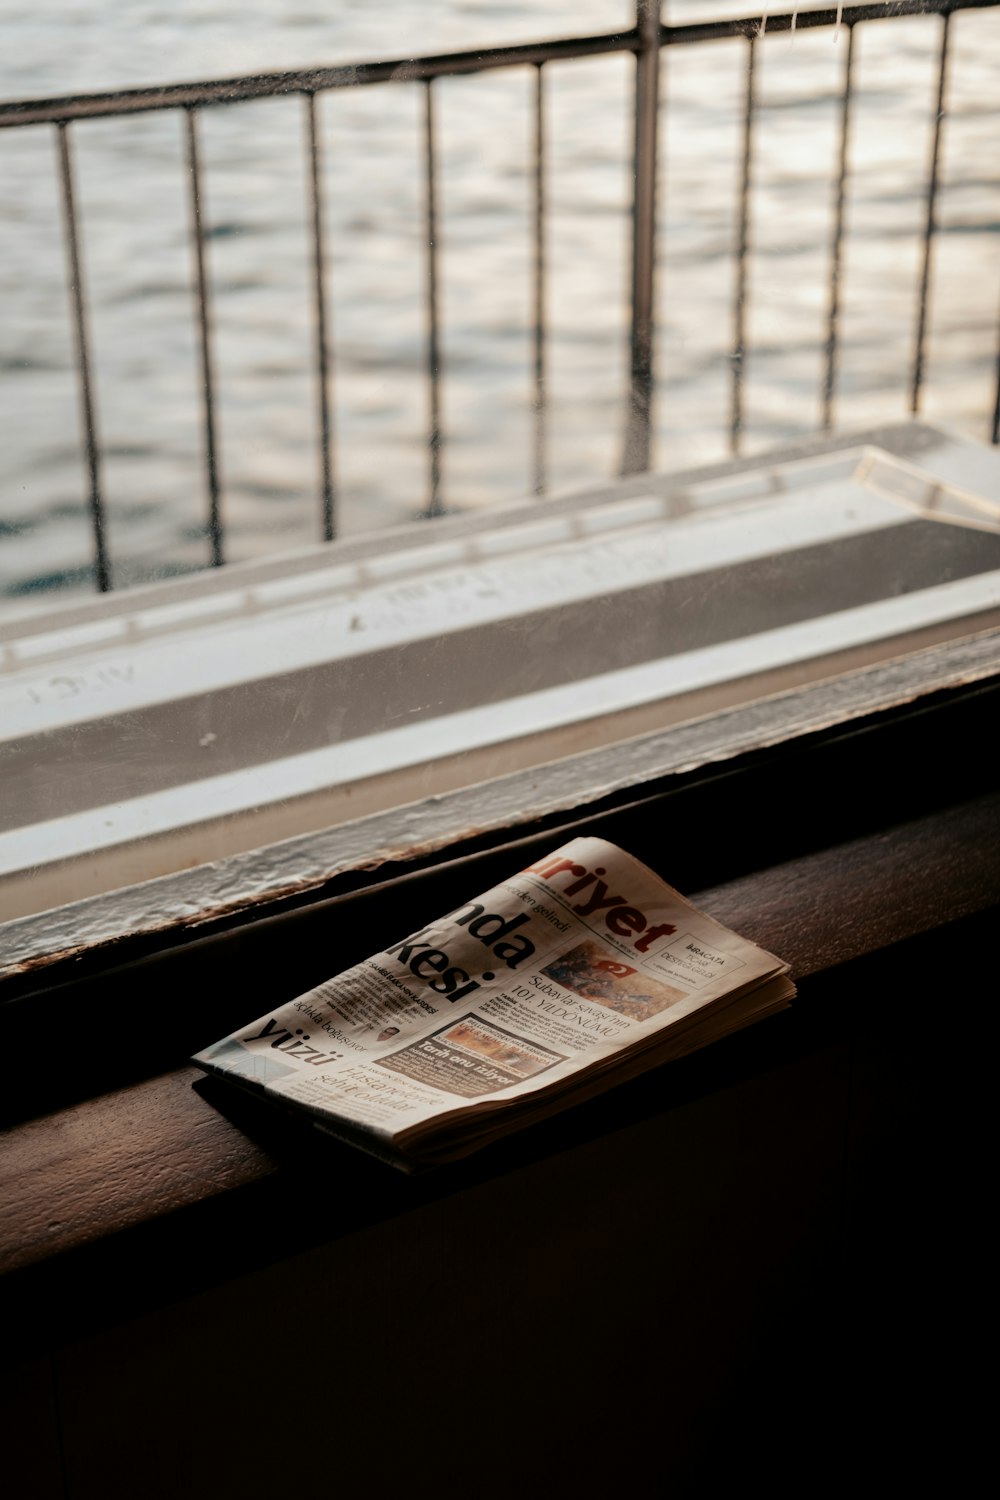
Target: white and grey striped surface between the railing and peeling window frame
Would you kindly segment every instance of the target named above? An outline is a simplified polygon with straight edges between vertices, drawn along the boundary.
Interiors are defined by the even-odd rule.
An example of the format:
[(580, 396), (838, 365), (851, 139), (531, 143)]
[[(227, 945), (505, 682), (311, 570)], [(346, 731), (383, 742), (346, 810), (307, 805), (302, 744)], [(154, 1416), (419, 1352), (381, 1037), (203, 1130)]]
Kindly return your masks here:
[(1000, 454), (931, 428), (408, 526), (0, 634), (7, 915), (1000, 621)]

